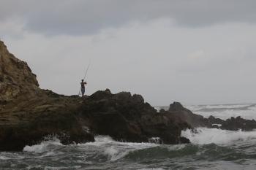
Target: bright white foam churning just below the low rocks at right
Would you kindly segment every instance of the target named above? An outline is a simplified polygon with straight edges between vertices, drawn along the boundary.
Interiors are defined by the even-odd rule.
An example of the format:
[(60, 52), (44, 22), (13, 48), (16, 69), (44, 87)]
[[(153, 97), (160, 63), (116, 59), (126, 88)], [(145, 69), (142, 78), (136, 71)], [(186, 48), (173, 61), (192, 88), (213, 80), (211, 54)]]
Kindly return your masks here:
[(225, 131), (217, 128), (197, 128), (197, 133), (187, 129), (181, 132), (192, 144), (230, 144), (238, 141), (255, 140), (256, 131)]

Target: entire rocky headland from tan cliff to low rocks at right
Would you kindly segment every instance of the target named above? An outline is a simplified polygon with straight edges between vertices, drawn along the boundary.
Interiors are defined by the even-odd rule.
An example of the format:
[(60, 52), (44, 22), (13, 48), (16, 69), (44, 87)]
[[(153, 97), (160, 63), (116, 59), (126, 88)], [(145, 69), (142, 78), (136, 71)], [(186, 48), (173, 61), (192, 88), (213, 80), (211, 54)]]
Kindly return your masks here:
[[(42, 90), (24, 61), (0, 41), (0, 150), (23, 150), (53, 136), (63, 144), (94, 142), (108, 135), (123, 142), (189, 143), (187, 128), (251, 131), (255, 120), (204, 118), (175, 102), (157, 112), (142, 96), (99, 90), (91, 96), (63, 96)], [(216, 124), (220, 124), (219, 127)]]

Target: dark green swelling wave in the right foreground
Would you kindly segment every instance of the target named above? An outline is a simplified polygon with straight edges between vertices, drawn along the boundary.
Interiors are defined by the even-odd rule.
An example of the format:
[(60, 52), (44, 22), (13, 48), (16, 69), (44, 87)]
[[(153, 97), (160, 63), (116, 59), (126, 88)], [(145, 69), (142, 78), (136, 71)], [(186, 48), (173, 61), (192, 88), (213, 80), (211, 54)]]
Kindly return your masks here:
[(177, 147), (175, 150), (170, 145), (161, 145), (131, 151), (124, 160), (147, 163), (168, 160), (169, 163), (176, 163), (180, 160), (186, 162), (187, 159), (190, 161), (236, 161), (255, 157), (255, 153), (241, 152), (234, 147), (217, 144), (184, 144), (184, 147)]

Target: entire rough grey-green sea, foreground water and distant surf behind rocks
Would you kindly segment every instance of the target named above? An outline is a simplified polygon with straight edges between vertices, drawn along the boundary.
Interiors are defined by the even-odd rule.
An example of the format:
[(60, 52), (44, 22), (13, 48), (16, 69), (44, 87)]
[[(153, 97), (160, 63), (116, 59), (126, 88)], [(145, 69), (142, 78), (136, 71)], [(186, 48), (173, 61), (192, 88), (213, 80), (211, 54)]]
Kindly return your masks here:
[[(256, 104), (186, 107), (203, 117), (256, 120)], [(256, 169), (256, 131), (197, 128), (196, 134), (187, 130), (182, 136), (191, 144), (116, 142), (110, 136), (95, 136), (96, 142), (63, 145), (53, 138), (22, 152), (0, 152), (0, 169)]]

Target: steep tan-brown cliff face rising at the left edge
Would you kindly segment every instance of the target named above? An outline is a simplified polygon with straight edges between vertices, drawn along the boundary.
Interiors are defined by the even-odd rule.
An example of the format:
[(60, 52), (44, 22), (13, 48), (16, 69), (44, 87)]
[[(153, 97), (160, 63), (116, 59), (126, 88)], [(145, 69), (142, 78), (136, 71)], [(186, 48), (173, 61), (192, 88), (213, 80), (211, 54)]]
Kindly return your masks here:
[(0, 41), (0, 103), (13, 101), (21, 94), (24, 100), (29, 99), (37, 94), (38, 86), (27, 63), (15, 58)]

